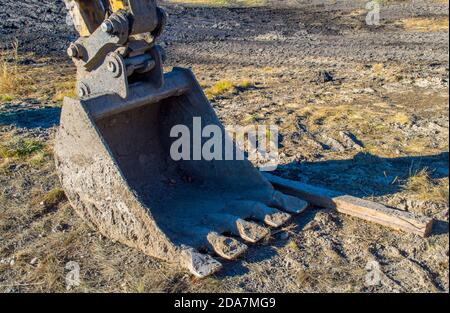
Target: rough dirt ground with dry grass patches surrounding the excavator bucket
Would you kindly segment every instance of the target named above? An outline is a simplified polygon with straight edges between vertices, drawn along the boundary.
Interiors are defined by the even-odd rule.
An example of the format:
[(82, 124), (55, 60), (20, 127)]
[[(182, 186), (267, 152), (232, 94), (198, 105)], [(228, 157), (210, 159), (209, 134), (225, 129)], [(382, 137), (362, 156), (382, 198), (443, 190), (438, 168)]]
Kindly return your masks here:
[(366, 1), (212, 2), (161, 4), (167, 69), (191, 67), (224, 124), (278, 125), (275, 174), (433, 217), (432, 235), (312, 208), (204, 280), (102, 237), (52, 158), (64, 5), (0, 0), (0, 291), (449, 292), (448, 1), (379, 1), (378, 26)]

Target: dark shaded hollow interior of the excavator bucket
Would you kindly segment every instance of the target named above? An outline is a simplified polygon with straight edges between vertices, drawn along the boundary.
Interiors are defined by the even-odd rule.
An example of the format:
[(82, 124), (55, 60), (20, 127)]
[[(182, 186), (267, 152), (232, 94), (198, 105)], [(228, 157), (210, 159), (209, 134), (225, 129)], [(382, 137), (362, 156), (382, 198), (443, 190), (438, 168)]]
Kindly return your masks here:
[(170, 148), (177, 138), (170, 131), (186, 125), (192, 134), (193, 117), (223, 130), (203, 94), (192, 92), (96, 121), (127, 183), (176, 244), (194, 244), (180, 234), (182, 228), (202, 225), (205, 214), (219, 212), (228, 201), (265, 184), (247, 160), (174, 161)]

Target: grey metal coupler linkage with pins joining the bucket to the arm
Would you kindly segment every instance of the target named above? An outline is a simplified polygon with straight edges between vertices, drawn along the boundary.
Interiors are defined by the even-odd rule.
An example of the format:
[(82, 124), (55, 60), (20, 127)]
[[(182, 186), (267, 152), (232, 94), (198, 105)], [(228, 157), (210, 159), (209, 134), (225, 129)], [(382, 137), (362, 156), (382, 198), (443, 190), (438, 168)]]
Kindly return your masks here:
[(126, 98), (129, 83), (139, 81), (159, 88), (163, 50), (155, 45), (155, 39), (165, 25), (164, 11), (155, 0), (129, 0), (123, 9), (105, 14), (95, 31), (67, 49), (77, 67), (79, 96), (115, 93)]

